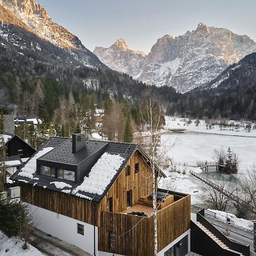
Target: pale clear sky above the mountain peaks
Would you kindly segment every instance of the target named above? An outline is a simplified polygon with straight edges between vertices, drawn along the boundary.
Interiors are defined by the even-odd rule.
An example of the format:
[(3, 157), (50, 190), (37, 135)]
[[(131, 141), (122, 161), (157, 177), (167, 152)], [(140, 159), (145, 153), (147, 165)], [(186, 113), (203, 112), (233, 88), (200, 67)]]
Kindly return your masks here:
[(163, 35), (178, 36), (200, 22), (256, 41), (256, 0), (36, 0), (53, 21), (86, 48), (109, 47), (118, 38), (149, 52)]

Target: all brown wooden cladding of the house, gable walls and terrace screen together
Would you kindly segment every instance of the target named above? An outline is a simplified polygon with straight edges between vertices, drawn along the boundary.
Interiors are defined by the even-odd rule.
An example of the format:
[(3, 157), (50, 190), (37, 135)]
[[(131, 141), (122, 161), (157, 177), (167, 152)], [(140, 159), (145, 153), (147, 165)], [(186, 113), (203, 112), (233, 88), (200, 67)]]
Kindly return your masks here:
[[(135, 164), (139, 166), (138, 172)], [(128, 166), (130, 172), (126, 172)], [(154, 255), (153, 217), (121, 213), (127, 209), (128, 191), (132, 195), (131, 205), (137, 205), (152, 192), (151, 167), (141, 151), (131, 156), (99, 204), (47, 188), (20, 185), (22, 201), (98, 226), (98, 250), (130, 256)], [(158, 251), (189, 230), (190, 213), (189, 195), (170, 196), (159, 208)]]

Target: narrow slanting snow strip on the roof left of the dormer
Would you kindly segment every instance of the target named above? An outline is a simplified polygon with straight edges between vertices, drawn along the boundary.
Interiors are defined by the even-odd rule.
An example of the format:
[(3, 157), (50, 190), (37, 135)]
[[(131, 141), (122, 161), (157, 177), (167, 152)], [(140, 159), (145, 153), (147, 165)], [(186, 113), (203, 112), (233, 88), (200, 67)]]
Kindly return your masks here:
[(19, 176), (28, 177), (32, 179), (33, 174), (36, 172), (36, 159), (40, 158), (40, 156), (46, 154), (51, 151), (53, 147), (45, 147), (43, 150), (40, 150), (37, 154), (35, 154), (24, 167), (20, 169)]

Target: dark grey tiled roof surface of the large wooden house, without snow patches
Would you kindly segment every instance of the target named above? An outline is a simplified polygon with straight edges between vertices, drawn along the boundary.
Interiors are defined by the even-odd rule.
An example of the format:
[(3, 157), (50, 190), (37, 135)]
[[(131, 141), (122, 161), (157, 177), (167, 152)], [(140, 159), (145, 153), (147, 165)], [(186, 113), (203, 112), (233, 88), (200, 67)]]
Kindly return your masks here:
[[(101, 151), (102, 151), (101, 155), (104, 154), (105, 152), (107, 152), (109, 154), (120, 155), (120, 156), (122, 156), (122, 158), (125, 159), (125, 160), (123, 160), (123, 163), (117, 170), (117, 173), (114, 175), (113, 179), (110, 181), (108, 187), (105, 188), (105, 191), (104, 191), (104, 193), (102, 193), (102, 195), (79, 191), (79, 194), (80, 194), (79, 197), (81, 197), (81, 196), (85, 196), (88, 198), (90, 197), (90, 199), (92, 199), (92, 201), (94, 201), (96, 203), (100, 203), (100, 201), (103, 199), (103, 197), (109, 191), (109, 189), (112, 186), (112, 184), (114, 183), (114, 181), (117, 179), (119, 173), (122, 171), (122, 169), (126, 165), (127, 161), (131, 158), (131, 156), (134, 154), (134, 152), (138, 149), (137, 144), (133, 144), (133, 143), (119, 143), (119, 142), (89, 140), (86, 142), (86, 147), (85, 147), (86, 149), (82, 148), (76, 154), (73, 154), (71, 138), (51, 137), (42, 145), (42, 147), (39, 148), (39, 150), (36, 153), (38, 153), (39, 151), (41, 151), (47, 147), (53, 147), (53, 149), (38, 159), (44, 159), (47, 161), (57, 162), (57, 163), (61, 162), (61, 163), (67, 163), (67, 164), (71, 164), (71, 163), (77, 164), (77, 163), (80, 163), (82, 160), (87, 159), (90, 155), (94, 154), (94, 152), (96, 152), (99, 149), (101, 149)], [(102, 148), (103, 148), (103, 150), (102, 150)], [(98, 156), (98, 159), (101, 157), (101, 155)], [(31, 158), (33, 156), (31, 156)], [(27, 161), (27, 163), (28, 162), (29, 162), (29, 160)], [(90, 169), (92, 167), (93, 166), (90, 166)], [(78, 183), (75, 183), (74, 181), (67, 180), (64, 182), (67, 183), (71, 187), (59, 189), (59, 188), (56, 188), (56, 186), (54, 184), (51, 184), (51, 182), (60, 181), (60, 180), (57, 180), (57, 179), (54, 179), (54, 178), (48, 177), (48, 176), (38, 175), (38, 174), (36, 174), (36, 172), (33, 175), (33, 178), (30, 179), (28, 177), (19, 176), (19, 172), (20, 172), (20, 169), (18, 171), (16, 171), (15, 174), (13, 176), (11, 176), (10, 179), (14, 180), (14, 181), (18, 181), (18, 182), (20, 181), (20, 182), (25, 182), (25, 183), (28, 183), (31, 185), (36, 185), (38, 187), (43, 187), (46, 189), (51, 189), (51, 190), (57, 191), (57, 192), (63, 192), (63, 189), (66, 190), (66, 192), (67, 192), (67, 190), (70, 189), (70, 192), (68, 192), (70, 195), (73, 195), (72, 191), (74, 191), (74, 189), (77, 186), (81, 185), (81, 183), (84, 181), (84, 179), (80, 179), (78, 181)], [(73, 196), (78, 196), (78, 195), (75, 194)]]

